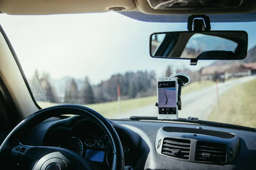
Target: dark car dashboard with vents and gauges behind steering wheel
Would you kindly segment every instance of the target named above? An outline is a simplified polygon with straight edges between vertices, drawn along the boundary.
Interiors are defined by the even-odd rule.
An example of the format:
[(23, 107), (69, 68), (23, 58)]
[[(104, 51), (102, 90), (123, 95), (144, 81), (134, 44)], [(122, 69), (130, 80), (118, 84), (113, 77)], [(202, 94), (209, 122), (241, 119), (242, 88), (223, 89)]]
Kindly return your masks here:
[[(134, 170), (253, 169), (256, 133), (189, 123), (109, 120), (122, 143), (125, 166)], [(72, 116), (41, 122), (23, 144), (64, 147), (110, 169), (111, 143), (90, 119)]]

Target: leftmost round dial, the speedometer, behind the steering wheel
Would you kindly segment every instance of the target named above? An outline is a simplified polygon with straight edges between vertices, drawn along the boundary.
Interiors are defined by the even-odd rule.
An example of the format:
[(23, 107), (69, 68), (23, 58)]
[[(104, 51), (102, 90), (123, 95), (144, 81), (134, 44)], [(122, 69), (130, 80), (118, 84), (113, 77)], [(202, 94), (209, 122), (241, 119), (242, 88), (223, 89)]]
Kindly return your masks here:
[(83, 144), (80, 139), (76, 137), (69, 137), (64, 139), (58, 147), (63, 147), (69, 150), (73, 150), (74, 152), (82, 155), (83, 153)]

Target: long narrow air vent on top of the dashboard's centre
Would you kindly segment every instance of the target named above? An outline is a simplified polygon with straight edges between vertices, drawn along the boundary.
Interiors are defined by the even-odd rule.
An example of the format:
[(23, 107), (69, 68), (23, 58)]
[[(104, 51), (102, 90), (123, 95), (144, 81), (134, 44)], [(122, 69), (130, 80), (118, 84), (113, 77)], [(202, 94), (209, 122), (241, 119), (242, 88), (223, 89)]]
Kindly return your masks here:
[(206, 129), (195, 129), (195, 128), (187, 128), (187, 127), (163, 127), (163, 131), (165, 132), (182, 132), (182, 133), (198, 133), (209, 136), (216, 136), (225, 139), (231, 139), (235, 137), (233, 133), (228, 132), (220, 132), (215, 130), (206, 130)]

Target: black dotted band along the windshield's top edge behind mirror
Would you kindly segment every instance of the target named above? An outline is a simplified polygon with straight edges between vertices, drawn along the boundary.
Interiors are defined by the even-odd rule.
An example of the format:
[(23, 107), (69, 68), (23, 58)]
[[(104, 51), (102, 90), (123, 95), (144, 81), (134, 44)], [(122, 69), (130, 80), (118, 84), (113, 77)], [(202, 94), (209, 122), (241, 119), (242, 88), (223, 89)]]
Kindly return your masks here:
[[(149, 23), (187, 23), (190, 14), (145, 14), (141, 11), (118, 11), (126, 17)], [(211, 23), (256, 22), (256, 11), (244, 14), (206, 14)]]

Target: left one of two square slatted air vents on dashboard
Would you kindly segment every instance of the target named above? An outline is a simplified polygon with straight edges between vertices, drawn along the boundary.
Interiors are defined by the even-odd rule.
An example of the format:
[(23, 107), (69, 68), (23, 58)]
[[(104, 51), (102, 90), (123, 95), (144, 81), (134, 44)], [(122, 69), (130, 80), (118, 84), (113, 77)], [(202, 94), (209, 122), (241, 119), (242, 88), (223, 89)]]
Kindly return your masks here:
[(173, 156), (182, 159), (189, 159), (190, 140), (164, 138), (162, 152), (164, 155)]

